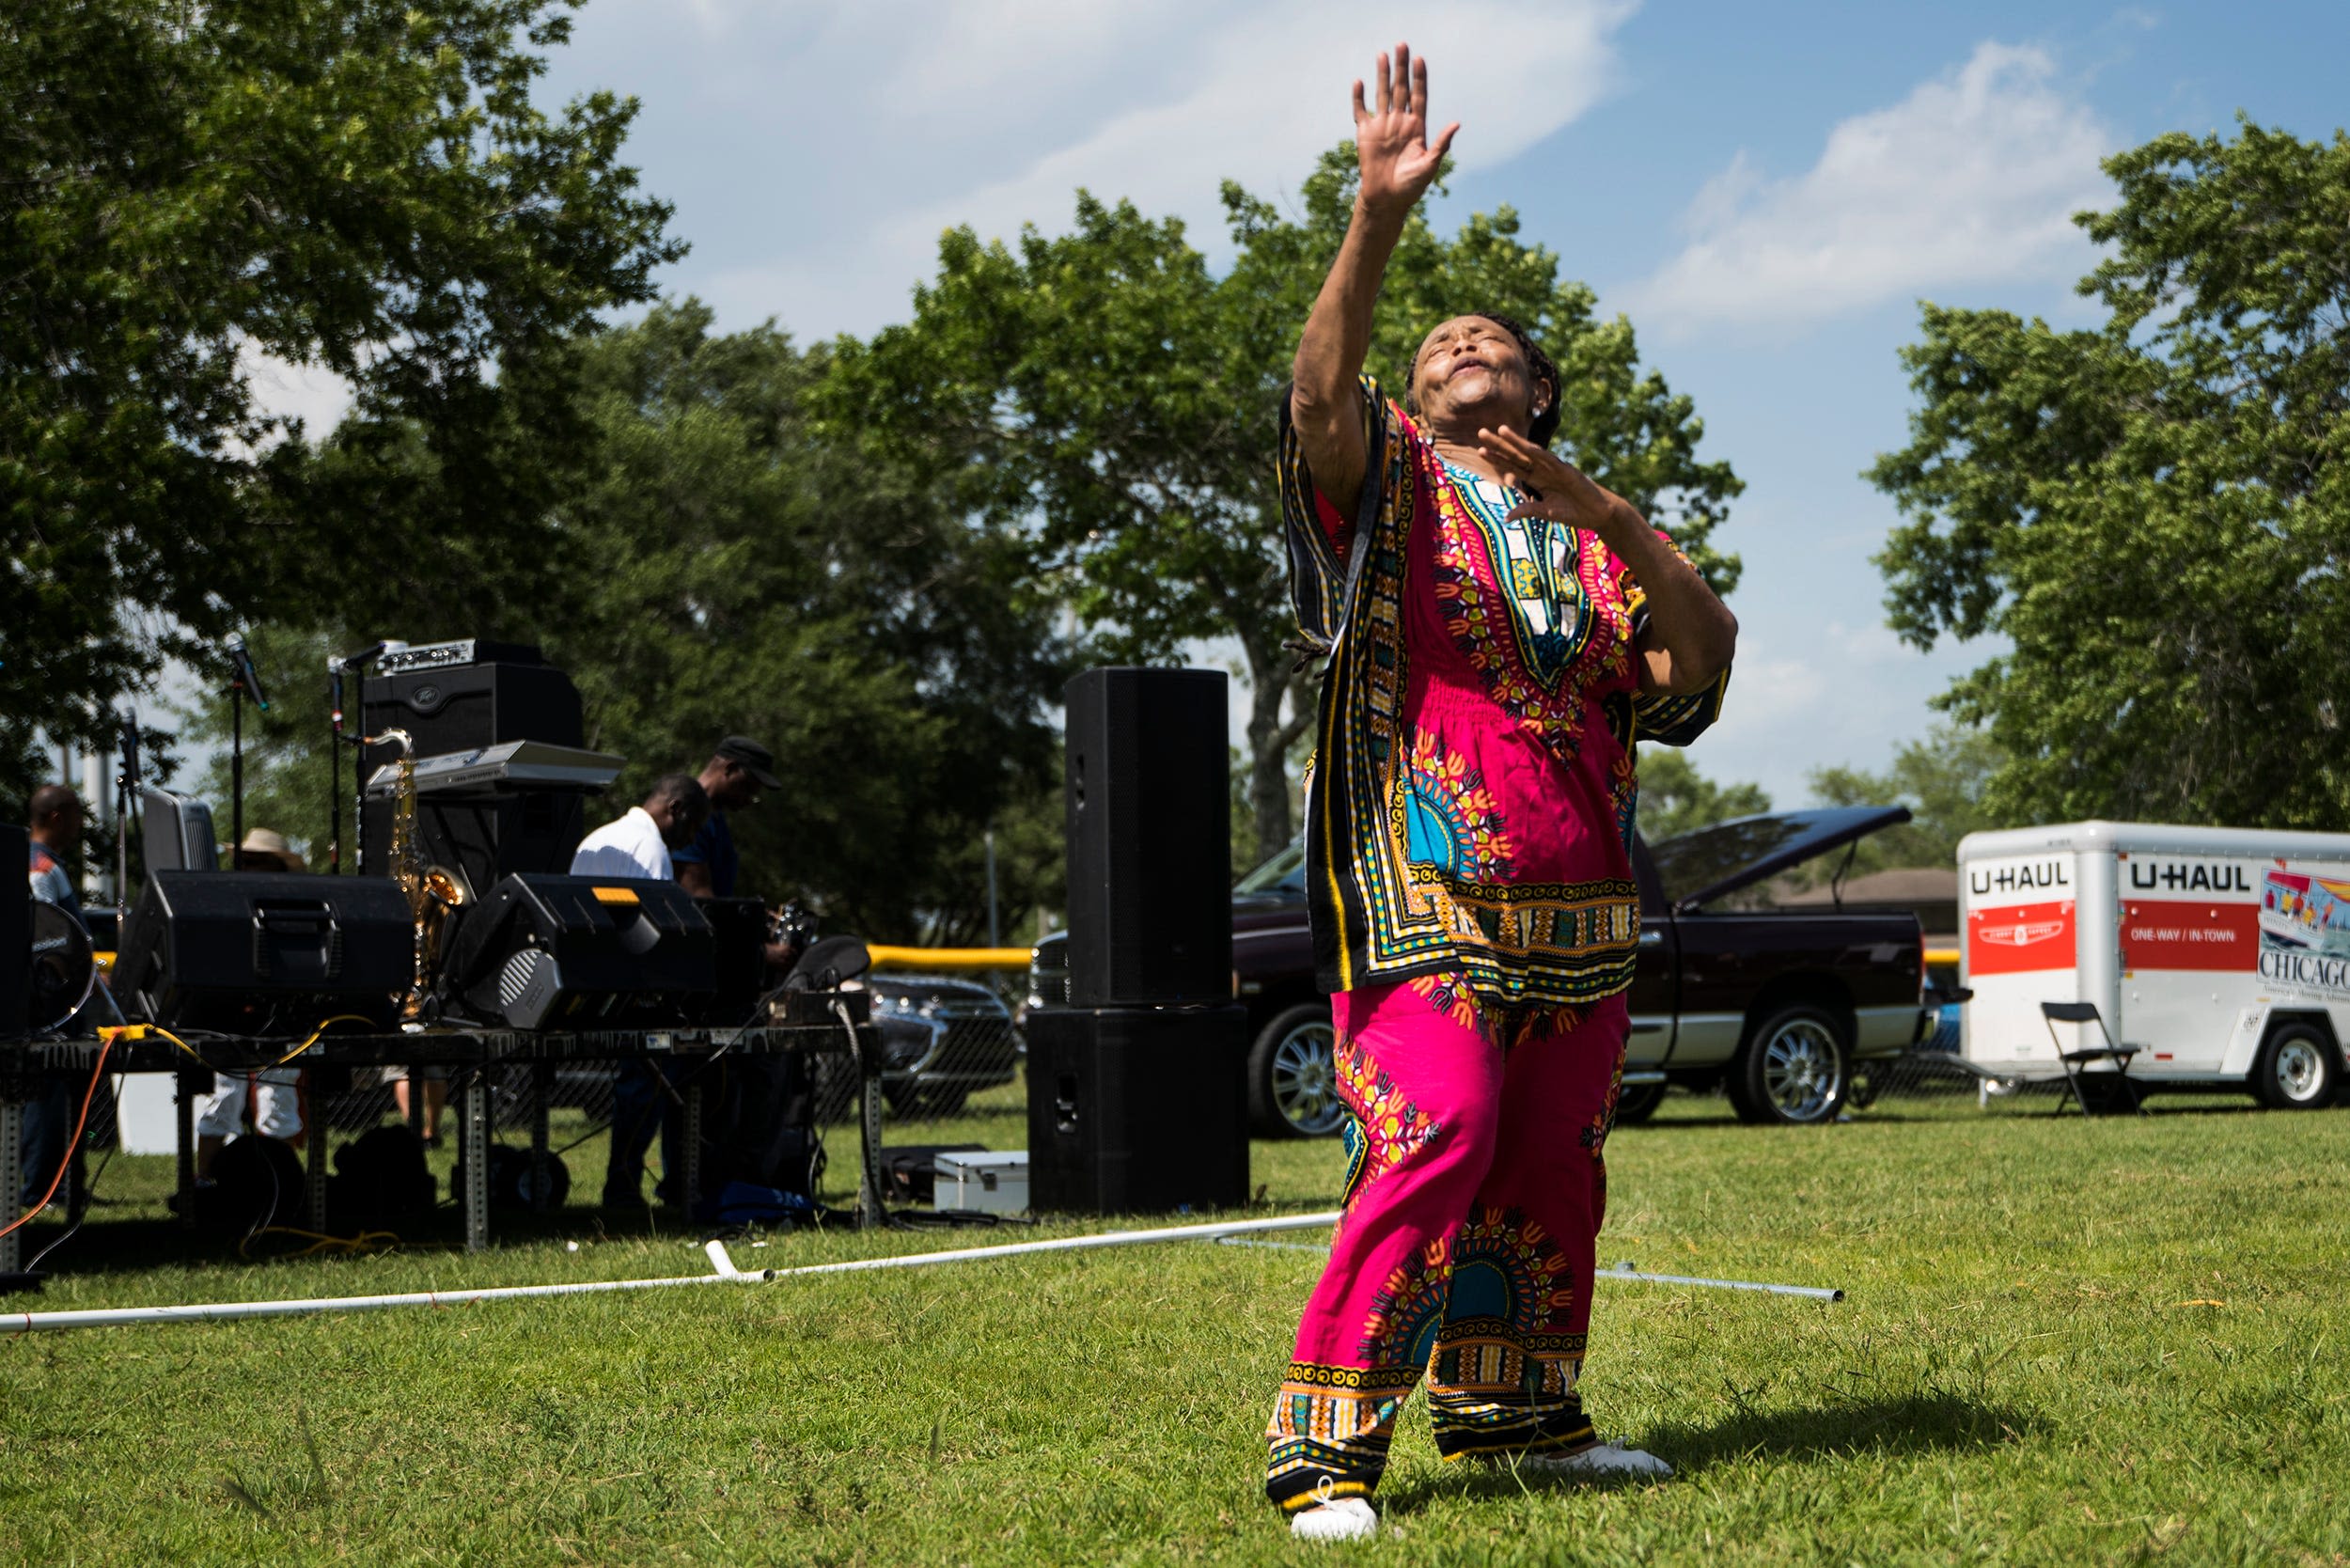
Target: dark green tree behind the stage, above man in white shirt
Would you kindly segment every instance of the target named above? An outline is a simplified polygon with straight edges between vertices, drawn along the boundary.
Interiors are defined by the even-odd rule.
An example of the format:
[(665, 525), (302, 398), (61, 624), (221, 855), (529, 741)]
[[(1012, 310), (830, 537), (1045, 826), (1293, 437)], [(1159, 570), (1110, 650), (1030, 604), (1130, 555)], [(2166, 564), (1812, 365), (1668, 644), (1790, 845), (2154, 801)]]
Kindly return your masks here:
[[(975, 940), (996, 827), (1006, 914), (1058, 907), (1043, 710), (1067, 661), (1025, 548), (956, 517), (886, 444), (813, 437), (830, 353), (773, 327), (714, 334), (705, 306), (658, 306), (576, 367), (592, 444), (552, 527), (564, 588), (517, 630), (578, 682), (588, 745), (630, 759), (588, 820), (740, 731), (785, 778), (733, 823), (745, 893), (874, 940)], [(247, 715), (249, 823), (324, 832), (324, 654), (383, 632), (414, 637), (392, 618), (256, 639), (275, 708)], [(197, 729), (219, 745), (226, 710)], [(214, 802), (226, 785), (219, 764)]]

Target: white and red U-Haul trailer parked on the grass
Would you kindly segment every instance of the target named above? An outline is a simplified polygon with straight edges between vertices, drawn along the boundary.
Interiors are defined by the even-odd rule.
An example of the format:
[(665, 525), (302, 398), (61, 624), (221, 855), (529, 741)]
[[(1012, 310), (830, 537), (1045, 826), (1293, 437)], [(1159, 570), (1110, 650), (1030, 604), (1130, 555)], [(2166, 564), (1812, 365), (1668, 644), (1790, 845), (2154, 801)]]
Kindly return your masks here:
[[(2350, 835), (2150, 823), (1972, 832), (1958, 846), (1960, 1051), (2052, 1079), (2103, 1046), (2042, 1001), (2094, 1001), (2146, 1084), (2315, 1107), (2350, 1041)], [(2110, 1065), (2099, 1065), (2110, 1070)]]

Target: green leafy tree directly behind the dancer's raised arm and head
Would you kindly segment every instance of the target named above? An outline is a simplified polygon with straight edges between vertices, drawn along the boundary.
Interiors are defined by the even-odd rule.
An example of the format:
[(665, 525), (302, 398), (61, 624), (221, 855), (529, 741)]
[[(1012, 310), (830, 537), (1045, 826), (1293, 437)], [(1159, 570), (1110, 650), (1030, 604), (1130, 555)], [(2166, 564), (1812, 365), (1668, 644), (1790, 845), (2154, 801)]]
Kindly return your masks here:
[[(1104, 658), (1156, 663), (1234, 637), (1248, 670), (1250, 839), (1290, 839), (1288, 752), (1314, 722), (1295, 637), (1274, 484), (1274, 421), (1314, 292), (1354, 202), (1354, 150), (1321, 160), (1297, 216), (1224, 186), (1236, 259), (1217, 277), (1175, 219), (1083, 190), (1076, 223), (1018, 244), (968, 228), (940, 242), (914, 320), (841, 346), (837, 418), (893, 433), (952, 475), (964, 505), (1027, 529), (1039, 571), (1093, 628)], [(1499, 209), (1396, 252), (1372, 367), (1403, 388), (1438, 320), (1502, 310), (1560, 367), (1560, 437), (1727, 590), (1737, 559), (1708, 543), (1741, 482), (1697, 458), (1687, 397), (1640, 371), (1631, 324), (1593, 315), (1558, 256)]]

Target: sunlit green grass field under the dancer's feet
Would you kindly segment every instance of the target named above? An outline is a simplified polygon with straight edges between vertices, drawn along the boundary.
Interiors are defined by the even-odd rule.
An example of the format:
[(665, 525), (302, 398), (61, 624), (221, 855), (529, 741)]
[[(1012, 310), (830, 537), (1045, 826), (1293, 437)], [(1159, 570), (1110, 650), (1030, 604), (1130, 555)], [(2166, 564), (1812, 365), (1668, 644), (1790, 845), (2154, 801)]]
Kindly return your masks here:
[[(996, 1121), (968, 1131), (1018, 1147)], [(164, 1166), (118, 1161), (103, 1190), (132, 1201), (103, 1213), (136, 1215)], [(1330, 1206), (1337, 1145), (1257, 1145), (1255, 1178), (1267, 1213)], [(1415, 1406), (1382, 1488), (1391, 1535), (1292, 1544), (1257, 1490), (1260, 1432), (1318, 1258), (1182, 1244), (12, 1338), (0, 1559), (2350, 1563), (2350, 1112), (1915, 1100), (1760, 1131), (1676, 1095), (1617, 1133), (1610, 1187), (1603, 1265), (1849, 1293), (1600, 1286), (1591, 1406), (1680, 1467), (1666, 1486), (1448, 1467)], [(108, 1267), (7, 1305), (703, 1267), (698, 1237), (580, 1218), (569, 1239)], [(797, 1234), (736, 1255), (968, 1241)]]

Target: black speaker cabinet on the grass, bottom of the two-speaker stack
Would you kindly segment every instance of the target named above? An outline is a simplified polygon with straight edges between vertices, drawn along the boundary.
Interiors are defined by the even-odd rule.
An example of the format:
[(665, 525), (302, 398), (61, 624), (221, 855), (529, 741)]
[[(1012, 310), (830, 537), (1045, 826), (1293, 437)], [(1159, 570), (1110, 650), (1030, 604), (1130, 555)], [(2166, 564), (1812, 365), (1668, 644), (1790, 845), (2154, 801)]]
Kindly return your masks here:
[(1248, 1201), (1243, 1009), (1036, 1009), (1027, 1046), (1036, 1213)]

